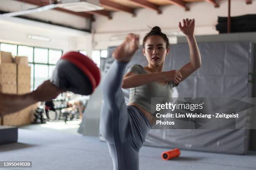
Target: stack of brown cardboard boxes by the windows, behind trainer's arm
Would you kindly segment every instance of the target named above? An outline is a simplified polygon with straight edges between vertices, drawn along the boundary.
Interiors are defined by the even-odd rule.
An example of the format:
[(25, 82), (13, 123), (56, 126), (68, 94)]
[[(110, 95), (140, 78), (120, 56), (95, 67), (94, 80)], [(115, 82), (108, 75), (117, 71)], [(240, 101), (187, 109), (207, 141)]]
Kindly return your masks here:
[[(28, 57), (13, 57), (10, 52), (0, 51), (0, 92), (8, 94), (24, 94), (30, 92), (31, 67)], [(19, 112), (5, 115), (1, 125), (26, 125), (31, 123), (31, 117), (37, 104), (31, 105)]]

